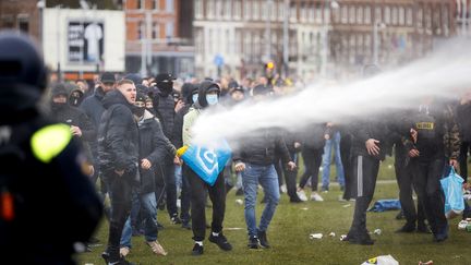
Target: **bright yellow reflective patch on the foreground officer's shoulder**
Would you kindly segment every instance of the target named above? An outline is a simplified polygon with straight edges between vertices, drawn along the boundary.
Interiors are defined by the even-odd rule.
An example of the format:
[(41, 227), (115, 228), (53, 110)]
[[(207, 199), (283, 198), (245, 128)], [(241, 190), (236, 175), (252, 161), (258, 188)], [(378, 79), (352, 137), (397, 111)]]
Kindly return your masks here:
[(65, 124), (52, 124), (41, 128), (31, 138), (34, 156), (43, 161), (50, 162), (70, 143), (72, 133)]

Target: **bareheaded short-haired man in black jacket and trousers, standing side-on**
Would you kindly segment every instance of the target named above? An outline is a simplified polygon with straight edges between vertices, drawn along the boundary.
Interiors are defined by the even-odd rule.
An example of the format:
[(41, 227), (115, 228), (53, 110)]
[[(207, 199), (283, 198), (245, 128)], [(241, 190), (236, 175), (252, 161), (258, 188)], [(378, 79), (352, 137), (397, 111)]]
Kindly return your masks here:
[(128, 264), (120, 257), (121, 232), (131, 209), (132, 188), (138, 183), (138, 130), (132, 113), (136, 88), (130, 80), (118, 82), (118, 89), (104, 98), (107, 109), (98, 130), (98, 158), (111, 201), (107, 263)]

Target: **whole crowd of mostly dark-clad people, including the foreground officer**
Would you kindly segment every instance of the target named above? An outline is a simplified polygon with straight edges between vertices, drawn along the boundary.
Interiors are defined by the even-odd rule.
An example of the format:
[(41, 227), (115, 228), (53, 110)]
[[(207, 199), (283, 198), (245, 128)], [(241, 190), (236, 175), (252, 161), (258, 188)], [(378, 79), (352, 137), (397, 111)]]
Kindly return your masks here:
[[(23, 47), (23, 50), (12, 53), (16, 56), (19, 65), (31, 65), (31, 58), (37, 58), (36, 64), (33, 64), (36, 72), (10, 71), (0, 75), (2, 85), (15, 88), (3, 89), (9, 93), (2, 91), (2, 100), (3, 100), (0, 108), (14, 110), (15, 116), (14, 119), (2, 116), (1, 124), (20, 132), (14, 135), (25, 134), (23, 138), (15, 138), (21, 146), (29, 137), (33, 145), (27, 148), (33, 154), (26, 156), (11, 152), (15, 150), (16, 143), (13, 147), (7, 145), (9, 148), (2, 146), (2, 159), (12, 162), (29, 159), (28, 165), (33, 165), (33, 171), (25, 168), (22, 177), (43, 171), (60, 176), (59, 180), (52, 180), (64, 184), (62, 192), (70, 193), (64, 193), (63, 197), (75, 205), (71, 209), (76, 213), (71, 213), (71, 216), (76, 220), (71, 218), (70, 221), (88, 225), (82, 230), (75, 227), (76, 232), (82, 233), (71, 231), (74, 237), (64, 237), (64, 240), (94, 240), (90, 238), (92, 231), (100, 216), (104, 198), (108, 195), (110, 208), (105, 208), (109, 220), (108, 245), (101, 254), (107, 264), (131, 264), (125, 256), (132, 248), (132, 236), (136, 234), (144, 236), (153, 253), (167, 255), (158, 241), (162, 226), (157, 221), (157, 212), (164, 205), (172, 224), (192, 230), (192, 255), (204, 254), (207, 228), (210, 228), (209, 242), (222, 251), (231, 251), (232, 245), (224, 234), (222, 227), (226, 195), (232, 188), (238, 195), (244, 196), (247, 248), (270, 248), (267, 231), (276, 214), (280, 194), (286, 188), (291, 203), (303, 203), (307, 201), (305, 189), (310, 182), (311, 200), (324, 201), (317, 190), (319, 168), (323, 169), (321, 191), (328, 192), (333, 149), (337, 181), (343, 191), (341, 200), (355, 201), (353, 221), (343, 241), (374, 244), (366, 228), (366, 210), (374, 195), (381, 161), (386, 156), (395, 157), (399, 200), (406, 219), (406, 224), (397, 232), (431, 233), (436, 242), (448, 238), (448, 220), (444, 213), (444, 193), (439, 180), (454, 167), (459, 169), (467, 182), (471, 93), (463, 93), (457, 100), (427, 96), (416, 101), (413, 108), (385, 109), (374, 116), (352, 118), (348, 123), (315, 122), (294, 132), (262, 128), (233, 143), (232, 159), (210, 185), (194, 168), (183, 162), (178, 152), (183, 146), (192, 145), (195, 136), (192, 127), (201, 113), (212, 109), (232, 108), (242, 103), (256, 105), (298, 93), (299, 87), (293, 86), (289, 80), (267, 76), (244, 79), (240, 83), (231, 77), (177, 82), (169, 73), (158, 74), (154, 79), (135, 73), (117, 75), (105, 72), (94, 83), (76, 80), (49, 85), (48, 105), (51, 111), (48, 119), (59, 122), (58, 127), (43, 122), (44, 118), (36, 110), (36, 103), (46, 87), (46, 71), (33, 45), (16, 35), (0, 36), (0, 47), (1, 45), (9, 48), (12, 45)], [(31, 55), (23, 55), (25, 51)], [(11, 55), (0, 52), (0, 63), (11, 63)], [(363, 71), (365, 77), (378, 72), (376, 65), (366, 65)], [(11, 101), (24, 105), (12, 105)], [(35, 119), (40, 119), (41, 122)], [(19, 121), (24, 121), (27, 127), (17, 125)], [(35, 124), (34, 128), (31, 124)], [(36, 132), (28, 132), (28, 127)], [(8, 134), (5, 130), (2, 128), (2, 137)], [(217, 135), (214, 136), (216, 138)], [(77, 143), (84, 152), (75, 149)], [(300, 154), (304, 171), (298, 184)], [(68, 165), (68, 168), (61, 165)], [(83, 181), (84, 174), (88, 176), (90, 183), (99, 186), (100, 202), (96, 194), (90, 193), (92, 185), (88, 181)], [(68, 176), (73, 176), (74, 180)], [(8, 182), (1, 184), (1, 203), (11, 203), (11, 200), (7, 200), (10, 196), (9, 189), (14, 192), (16, 186)], [(265, 204), (257, 224), (255, 207), (258, 185), (263, 188), (262, 201)], [(20, 189), (17, 192), (27, 191)], [(418, 196), (416, 207), (413, 192)], [(210, 224), (205, 213), (208, 198), (213, 208)], [(38, 201), (40, 202), (43, 201)], [(24, 212), (29, 215), (24, 215), (22, 207), (19, 212), (20, 217), (26, 216), (21, 219), (23, 222), (32, 214), (37, 214), (36, 204), (25, 207), (29, 207), (29, 212)], [(2, 231), (11, 229), (8, 221), (13, 218), (10, 212), (5, 213), (3, 210), (0, 216)], [(462, 218), (471, 217), (470, 215), (467, 205)], [(45, 224), (45, 227), (48, 225)], [(37, 230), (27, 231), (41, 234), (41, 229)], [(0, 242), (3, 246), (7, 241)], [(63, 249), (51, 243), (50, 248), (52, 246)], [(67, 250), (68, 254), (71, 252), (71, 248)], [(52, 254), (47, 257), (49, 260), (44, 261), (53, 260)]]

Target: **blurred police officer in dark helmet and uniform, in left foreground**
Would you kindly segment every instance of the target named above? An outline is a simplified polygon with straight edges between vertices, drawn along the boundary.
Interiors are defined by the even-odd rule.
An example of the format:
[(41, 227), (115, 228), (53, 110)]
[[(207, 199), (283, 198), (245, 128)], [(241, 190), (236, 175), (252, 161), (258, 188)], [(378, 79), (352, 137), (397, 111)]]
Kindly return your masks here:
[(37, 110), (46, 87), (33, 41), (0, 32), (0, 256), (2, 264), (75, 264), (101, 216), (85, 157), (65, 124)]

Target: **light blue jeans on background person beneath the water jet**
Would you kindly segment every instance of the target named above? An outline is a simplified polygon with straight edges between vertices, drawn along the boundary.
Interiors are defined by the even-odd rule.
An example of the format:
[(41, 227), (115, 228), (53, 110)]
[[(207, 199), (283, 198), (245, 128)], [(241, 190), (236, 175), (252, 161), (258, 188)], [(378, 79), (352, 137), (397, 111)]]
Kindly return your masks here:
[(340, 132), (335, 132), (333, 134), (333, 137), (326, 141), (326, 144), (324, 145), (324, 156), (323, 156), (323, 190), (328, 190), (329, 185), (329, 178), (330, 178), (330, 158), (331, 158), (331, 150), (335, 150), (335, 162), (337, 168), (337, 181), (339, 182), (340, 186), (345, 185), (345, 174), (343, 174), (343, 165), (341, 164), (341, 157), (340, 157)]

